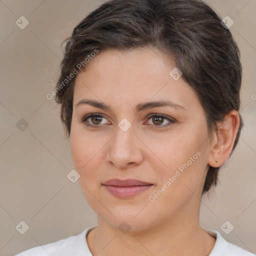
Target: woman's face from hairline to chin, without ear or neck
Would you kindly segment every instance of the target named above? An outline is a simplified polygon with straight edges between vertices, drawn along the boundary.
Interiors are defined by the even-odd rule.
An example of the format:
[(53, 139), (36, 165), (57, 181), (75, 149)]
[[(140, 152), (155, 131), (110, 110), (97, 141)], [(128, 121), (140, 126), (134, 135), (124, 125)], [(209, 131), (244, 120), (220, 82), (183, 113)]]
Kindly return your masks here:
[[(72, 159), (86, 201), (112, 226), (126, 221), (131, 230), (142, 230), (198, 215), (207, 124), (192, 87), (169, 75), (174, 67), (157, 50), (107, 50), (76, 76)], [(146, 184), (106, 185), (114, 178)]]

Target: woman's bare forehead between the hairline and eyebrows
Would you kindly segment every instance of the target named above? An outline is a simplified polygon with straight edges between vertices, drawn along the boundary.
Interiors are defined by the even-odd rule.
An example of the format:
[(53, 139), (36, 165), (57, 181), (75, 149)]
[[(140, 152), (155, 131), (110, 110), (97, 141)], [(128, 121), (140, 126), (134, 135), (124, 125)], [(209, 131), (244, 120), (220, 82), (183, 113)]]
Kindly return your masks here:
[(169, 75), (174, 67), (171, 59), (149, 48), (99, 51), (86, 64), (85, 72), (77, 74), (73, 103), (83, 97), (110, 105), (164, 99), (183, 104), (185, 108), (192, 103), (198, 107), (200, 104), (192, 87), (182, 76), (174, 80)]

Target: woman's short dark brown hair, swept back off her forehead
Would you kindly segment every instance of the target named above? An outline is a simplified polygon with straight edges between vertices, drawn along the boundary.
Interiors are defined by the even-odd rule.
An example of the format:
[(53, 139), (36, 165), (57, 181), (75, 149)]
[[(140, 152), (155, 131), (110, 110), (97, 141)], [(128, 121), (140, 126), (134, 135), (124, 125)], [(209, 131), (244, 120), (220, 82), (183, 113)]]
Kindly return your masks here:
[[(240, 52), (220, 16), (201, 0), (108, 0), (89, 13), (65, 40), (59, 84), (93, 50), (150, 46), (171, 56), (204, 109), (209, 134), (232, 109), (239, 111)], [(65, 42), (64, 41), (64, 42)], [(84, 68), (85, 70), (85, 65)], [(70, 135), (75, 77), (61, 86), (56, 102)], [(240, 116), (235, 148), (243, 121)], [(219, 167), (208, 167), (202, 193), (217, 184)]]

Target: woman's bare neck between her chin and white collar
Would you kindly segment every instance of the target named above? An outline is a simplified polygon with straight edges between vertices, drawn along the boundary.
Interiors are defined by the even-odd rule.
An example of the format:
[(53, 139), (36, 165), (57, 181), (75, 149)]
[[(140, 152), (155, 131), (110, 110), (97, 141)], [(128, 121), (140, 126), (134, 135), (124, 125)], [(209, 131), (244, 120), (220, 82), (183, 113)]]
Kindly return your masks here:
[(199, 212), (189, 210), (155, 222), (150, 228), (122, 233), (103, 218), (88, 235), (92, 255), (200, 255), (208, 256), (215, 238), (199, 225)]

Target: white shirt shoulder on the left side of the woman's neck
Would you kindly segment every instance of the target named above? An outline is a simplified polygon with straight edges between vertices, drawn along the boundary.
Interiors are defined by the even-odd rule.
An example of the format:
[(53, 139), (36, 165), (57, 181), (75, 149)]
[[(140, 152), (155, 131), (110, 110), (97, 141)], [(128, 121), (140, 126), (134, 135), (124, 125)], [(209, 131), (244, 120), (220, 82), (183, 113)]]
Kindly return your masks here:
[(71, 256), (71, 255), (90, 255), (88, 253), (85, 234), (90, 228), (84, 229), (78, 235), (72, 235), (67, 238), (47, 243), (44, 245), (36, 246), (27, 250), (24, 250), (15, 256)]

